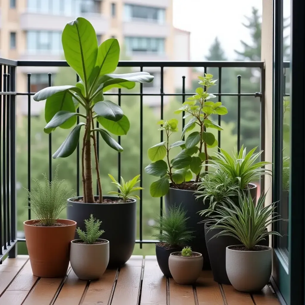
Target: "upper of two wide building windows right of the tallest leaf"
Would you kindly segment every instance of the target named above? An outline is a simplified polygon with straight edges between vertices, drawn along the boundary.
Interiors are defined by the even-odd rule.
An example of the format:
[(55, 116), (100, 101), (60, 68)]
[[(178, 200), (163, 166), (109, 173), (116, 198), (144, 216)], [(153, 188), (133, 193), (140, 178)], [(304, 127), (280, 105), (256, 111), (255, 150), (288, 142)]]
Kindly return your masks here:
[(165, 22), (165, 9), (157, 7), (125, 4), (124, 15), (125, 21), (141, 20), (160, 24)]

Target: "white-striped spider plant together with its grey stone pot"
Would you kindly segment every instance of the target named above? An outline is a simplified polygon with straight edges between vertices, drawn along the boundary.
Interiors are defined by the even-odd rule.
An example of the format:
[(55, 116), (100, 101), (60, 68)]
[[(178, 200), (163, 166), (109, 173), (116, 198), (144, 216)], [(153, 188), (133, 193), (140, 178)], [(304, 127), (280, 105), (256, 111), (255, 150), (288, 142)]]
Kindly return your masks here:
[(264, 207), (266, 194), (254, 205), (250, 194), (239, 192), (239, 205), (233, 201), (221, 205), (216, 221), (210, 230), (221, 229), (218, 236), (228, 235), (238, 240), (236, 245), (226, 247), (226, 272), (233, 287), (239, 291), (252, 292), (268, 284), (272, 269), (272, 248), (260, 246), (267, 235), (280, 235), (267, 231), (268, 225), (277, 221), (275, 203)]

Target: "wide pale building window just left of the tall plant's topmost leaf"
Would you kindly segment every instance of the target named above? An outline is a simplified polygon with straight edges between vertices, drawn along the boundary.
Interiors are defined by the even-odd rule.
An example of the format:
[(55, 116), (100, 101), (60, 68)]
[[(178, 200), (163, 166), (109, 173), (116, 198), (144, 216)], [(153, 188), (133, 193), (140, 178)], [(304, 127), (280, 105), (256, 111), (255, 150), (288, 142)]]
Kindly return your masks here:
[(30, 54), (54, 54), (63, 52), (61, 32), (57, 31), (28, 31), (27, 51)]

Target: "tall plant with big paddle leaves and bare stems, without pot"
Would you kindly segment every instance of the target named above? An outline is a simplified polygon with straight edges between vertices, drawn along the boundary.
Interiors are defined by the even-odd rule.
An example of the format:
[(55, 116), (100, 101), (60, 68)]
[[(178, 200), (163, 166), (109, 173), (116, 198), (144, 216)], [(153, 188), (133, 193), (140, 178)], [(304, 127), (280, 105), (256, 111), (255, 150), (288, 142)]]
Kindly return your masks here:
[[(53, 158), (70, 156), (77, 148), (81, 128), (84, 128), (81, 166), (84, 202), (94, 203), (92, 185), (91, 146), (93, 143), (95, 169), (99, 188), (99, 203), (102, 203), (97, 157), (96, 133), (111, 148), (122, 152), (123, 148), (112, 138), (126, 135), (130, 123), (117, 104), (104, 100), (103, 92), (111, 88), (131, 89), (135, 82), (151, 82), (153, 76), (147, 72), (111, 74), (117, 67), (120, 46), (115, 38), (110, 38), (98, 46), (96, 33), (91, 23), (77, 18), (66, 24), (62, 34), (63, 51), (67, 63), (75, 70), (80, 81), (75, 86), (56, 86), (42, 89), (34, 95), (35, 101), (46, 100), (44, 131), (50, 133), (56, 127), (72, 131), (53, 154)], [(76, 111), (81, 107), (79, 113)], [(77, 122), (77, 116), (81, 122)], [(96, 122), (103, 128), (98, 128)]]

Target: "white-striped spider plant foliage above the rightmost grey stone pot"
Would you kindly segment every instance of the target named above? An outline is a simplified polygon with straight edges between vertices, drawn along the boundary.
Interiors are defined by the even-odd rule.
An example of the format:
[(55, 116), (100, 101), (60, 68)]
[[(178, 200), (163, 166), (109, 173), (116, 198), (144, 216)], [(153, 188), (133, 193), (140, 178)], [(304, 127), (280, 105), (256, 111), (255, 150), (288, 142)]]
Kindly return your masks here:
[(209, 230), (221, 229), (220, 235), (229, 235), (238, 239), (247, 249), (253, 249), (255, 245), (267, 235), (279, 235), (276, 231), (266, 231), (268, 225), (278, 221), (278, 215), (274, 212), (275, 203), (264, 207), (267, 192), (261, 195), (257, 205), (254, 206), (250, 194), (238, 192), (239, 206), (228, 199), (228, 204), (218, 206), (217, 214), (211, 216), (212, 224)]

